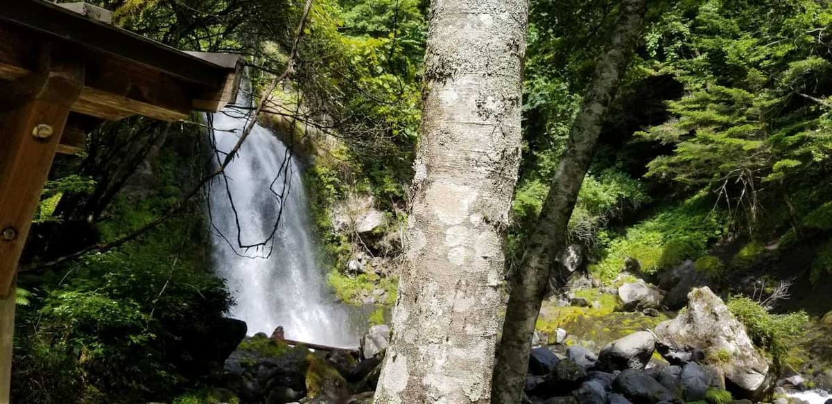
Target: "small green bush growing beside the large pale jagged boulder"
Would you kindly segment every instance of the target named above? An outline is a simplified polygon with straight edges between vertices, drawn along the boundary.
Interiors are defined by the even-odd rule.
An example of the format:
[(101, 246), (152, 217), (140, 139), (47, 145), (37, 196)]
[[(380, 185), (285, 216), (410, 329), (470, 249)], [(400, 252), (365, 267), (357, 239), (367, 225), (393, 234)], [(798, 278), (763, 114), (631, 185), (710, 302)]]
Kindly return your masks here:
[(744, 296), (733, 296), (727, 302), (730, 312), (745, 324), (748, 335), (757, 347), (769, 353), (780, 369), (785, 363), (795, 338), (804, 333), (809, 316), (804, 312), (771, 314), (760, 303)]

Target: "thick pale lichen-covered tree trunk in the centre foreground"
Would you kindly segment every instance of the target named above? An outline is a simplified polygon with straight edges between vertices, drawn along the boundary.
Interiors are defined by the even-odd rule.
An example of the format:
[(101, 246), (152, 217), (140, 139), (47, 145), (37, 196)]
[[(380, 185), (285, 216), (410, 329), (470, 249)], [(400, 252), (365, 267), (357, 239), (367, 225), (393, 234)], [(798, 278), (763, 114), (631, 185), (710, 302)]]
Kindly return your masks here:
[(488, 403), (526, 0), (433, 0), (408, 256), (377, 404)]

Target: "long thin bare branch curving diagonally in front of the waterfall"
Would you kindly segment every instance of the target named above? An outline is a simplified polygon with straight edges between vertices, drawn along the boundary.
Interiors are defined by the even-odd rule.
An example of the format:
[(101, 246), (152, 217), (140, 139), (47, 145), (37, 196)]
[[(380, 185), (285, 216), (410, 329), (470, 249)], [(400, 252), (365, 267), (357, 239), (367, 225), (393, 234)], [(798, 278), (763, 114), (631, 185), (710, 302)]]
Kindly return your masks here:
[(59, 264), (63, 264), (67, 261), (71, 261), (73, 259), (78, 259), (85, 254), (92, 253), (92, 252), (104, 252), (111, 249), (115, 249), (123, 244), (126, 244), (134, 239), (139, 238), (141, 235), (146, 234), (147, 232), (151, 231), (152, 229), (156, 229), (156, 226), (165, 222), (166, 219), (170, 219), (174, 214), (177, 214), (181, 211), (181, 209), (187, 206), (187, 202), (193, 199), (194, 196), (198, 195), (204, 187), (210, 183), (210, 180), (213, 180), (217, 175), (223, 175), (225, 173), (225, 168), (230, 165), (231, 161), (234, 160), (235, 155), (240, 151), (240, 148), (245, 142), (245, 139), (251, 133), (251, 130), (254, 128), (255, 123), (257, 121), (257, 116), (260, 114), (260, 111), (263, 110), (263, 106), (269, 100), (271, 93), (275, 91), (275, 88), (281, 81), (284, 81), (287, 77), (291, 76), (295, 72), (295, 62), (297, 61), (298, 57), (298, 47), (300, 44), (300, 39), (304, 35), (304, 28), (306, 26), (307, 18), (309, 17), (310, 8), (312, 7), (312, 0), (306, 0), (304, 11), (300, 16), (300, 22), (298, 22), (297, 31), (295, 34), (295, 42), (292, 43), (292, 49), (289, 54), (288, 61), (286, 62), (285, 70), (280, 73), (280, 76), (275, 76), (275, 78), (270, 82), (267, 90), (265, 91), (264, 95), (260, 98), (260, 101), (257, 104), (257, 107), (251, 114), (251, 120), (249, 121), (248, 125), (245, 126), (245, 130), (240, 135), (240, 140), (237, 140), (237, 143), (234, 145), (228, 153), (225, 154), (225, 159), (222, 160), (222, 164), (210, 172), (210, 174), (203, 177), (191, 190), (188, 190), (185, 195), (181, 197), (180, 200), (176, 201), (170, 208), (168, 208), (165, 213), (161, 214), (161, 216), (157, 217), (156, 219), (151, 220), (150, 222), (142, 225), (138, 229), (134, 229), (130, 233), (112, 241), (106, 243), (98, 243), (92, 244), (85, 249), (81, 249), (75, 253), (67, 254), (57, 259), (53, 259), (52, 261), (48, 261), (42, 264), (31, 264), (27, 265), (26, 267), (22, 267), (18, 269), (18, 271), (31, 271), (35, 269), (47, 269)]

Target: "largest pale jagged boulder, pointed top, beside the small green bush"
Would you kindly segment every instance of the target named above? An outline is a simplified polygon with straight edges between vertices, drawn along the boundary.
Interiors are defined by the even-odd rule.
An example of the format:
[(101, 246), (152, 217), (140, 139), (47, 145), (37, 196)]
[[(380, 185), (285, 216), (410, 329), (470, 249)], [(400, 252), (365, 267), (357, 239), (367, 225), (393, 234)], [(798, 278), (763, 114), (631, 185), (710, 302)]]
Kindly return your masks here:
[(688, 293), (688, 301), (686, 311), (656, 326), (661, 354), (701, 351), (706, 356), (725, 357), (721, 368), (729, 387), (742, 397), (759, 397), (770, 387), (770, 366), (754, 347), (745, 326), (710, 288), (694, 289)]

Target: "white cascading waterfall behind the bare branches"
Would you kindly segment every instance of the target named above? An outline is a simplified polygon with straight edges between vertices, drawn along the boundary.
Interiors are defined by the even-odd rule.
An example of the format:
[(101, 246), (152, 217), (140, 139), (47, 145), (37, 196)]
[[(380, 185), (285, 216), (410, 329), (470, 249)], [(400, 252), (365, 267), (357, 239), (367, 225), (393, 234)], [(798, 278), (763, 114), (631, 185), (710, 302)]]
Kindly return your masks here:
[[(250, 106), (245, 92), (238, 106)], [(212, 116), (215, 167), (245, 130), (249, 110), (230, 106)], [(234, 294), (232, 317), (250, 334), (270, 335), (280, 326), (288, 339), (358, 344), (362, 326), (324, 283), (301, 166), (271, 131), (255, 124), (225, 177), (210, 184), (209, 214), (215, 271)]]

